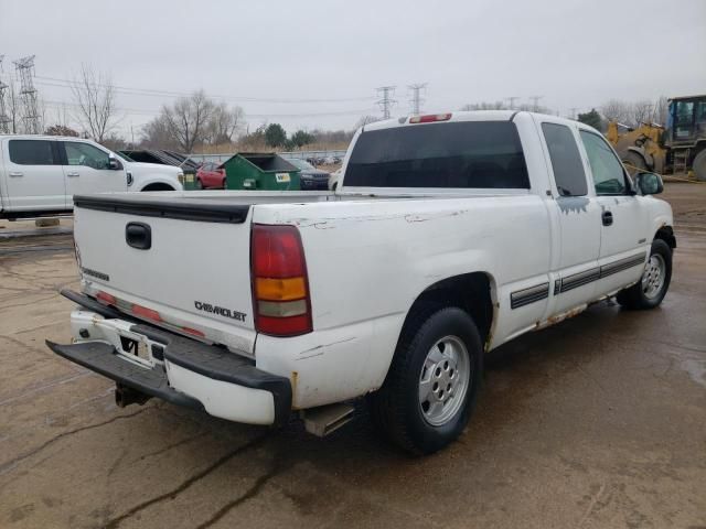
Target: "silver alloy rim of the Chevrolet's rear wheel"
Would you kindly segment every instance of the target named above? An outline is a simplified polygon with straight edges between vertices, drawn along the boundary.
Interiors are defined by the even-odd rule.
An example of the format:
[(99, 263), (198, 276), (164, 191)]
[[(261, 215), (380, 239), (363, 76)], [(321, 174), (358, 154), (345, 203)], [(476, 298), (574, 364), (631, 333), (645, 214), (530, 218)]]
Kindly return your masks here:
[(425, 421), (440, 427), (462, 408), (471, 379), (471, 361), (463, 342), (445, 336), (427, 353), (419, 375), (419, 409)]

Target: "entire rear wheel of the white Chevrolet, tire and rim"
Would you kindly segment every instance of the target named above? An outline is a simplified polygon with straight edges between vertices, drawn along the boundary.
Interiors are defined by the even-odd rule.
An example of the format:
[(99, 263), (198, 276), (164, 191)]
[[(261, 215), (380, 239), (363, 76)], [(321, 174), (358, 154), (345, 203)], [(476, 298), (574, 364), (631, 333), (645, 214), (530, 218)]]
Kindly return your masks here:
[(467, 312), (415, 310), (385, 384), (371, 396), (375, 423), (414, 454), (445, 447), (468, 423), (481, 384), (482, 356), (478, 328)]

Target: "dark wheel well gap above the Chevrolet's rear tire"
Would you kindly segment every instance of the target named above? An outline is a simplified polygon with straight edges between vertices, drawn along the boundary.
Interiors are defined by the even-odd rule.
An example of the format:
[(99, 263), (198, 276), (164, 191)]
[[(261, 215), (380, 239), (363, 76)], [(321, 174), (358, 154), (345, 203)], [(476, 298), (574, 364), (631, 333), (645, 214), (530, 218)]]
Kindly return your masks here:
[(478, 332), (488, 344), (493, 324), (491, 279), (483, 272), (464, 273), (432, 284), (415, 300), (405, 321), (415, 309), (429, 306), (458, 306), (470, 314)]

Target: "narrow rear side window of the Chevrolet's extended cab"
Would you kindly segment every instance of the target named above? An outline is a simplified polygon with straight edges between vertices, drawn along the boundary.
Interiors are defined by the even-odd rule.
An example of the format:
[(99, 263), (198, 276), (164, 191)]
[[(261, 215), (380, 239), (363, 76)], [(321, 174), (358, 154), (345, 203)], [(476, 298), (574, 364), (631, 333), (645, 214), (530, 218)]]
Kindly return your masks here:
[(547, 142), (556, 188), (561, 196), (584, 196), (588, 194), (586, 172), (574, 133), (565, 125), (542, 123), (542, 132)]

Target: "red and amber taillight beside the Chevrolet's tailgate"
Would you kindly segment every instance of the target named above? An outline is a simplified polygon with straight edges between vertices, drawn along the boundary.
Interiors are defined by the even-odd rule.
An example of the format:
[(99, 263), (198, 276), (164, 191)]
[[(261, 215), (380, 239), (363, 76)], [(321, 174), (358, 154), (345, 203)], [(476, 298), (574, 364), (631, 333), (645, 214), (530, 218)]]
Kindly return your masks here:
[(311, 300), (301, 236), (295, 226), (253, 226), (255, 328), (272, 336), (309, 333)]

